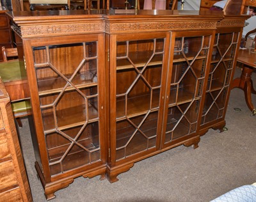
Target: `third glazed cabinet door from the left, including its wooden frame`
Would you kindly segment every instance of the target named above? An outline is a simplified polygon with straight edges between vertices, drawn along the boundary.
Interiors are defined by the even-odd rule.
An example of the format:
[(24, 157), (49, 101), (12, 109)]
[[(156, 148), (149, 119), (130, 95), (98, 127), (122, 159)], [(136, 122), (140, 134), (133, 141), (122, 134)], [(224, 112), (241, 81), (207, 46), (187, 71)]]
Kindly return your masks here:
[[(164, 109), (163, 148), (185, 143), (197, 146), (193, 137), (200, 120), (200, 106), (209, 66), (214, 31), (172, 33), (170, 66)], [(210, 55), (211, 56), (211, 55)]]

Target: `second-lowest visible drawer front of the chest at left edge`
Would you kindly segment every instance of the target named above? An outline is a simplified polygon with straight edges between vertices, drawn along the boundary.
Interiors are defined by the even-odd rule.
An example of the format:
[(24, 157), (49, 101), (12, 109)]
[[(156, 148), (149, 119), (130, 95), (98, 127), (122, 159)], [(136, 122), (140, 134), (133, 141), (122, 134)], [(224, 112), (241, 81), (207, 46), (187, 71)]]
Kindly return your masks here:
[(8, 160), (0, 163), (0, 190), (17, 184), (13, 161)]

